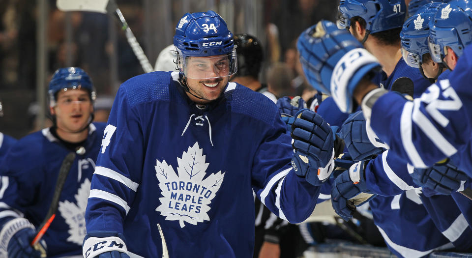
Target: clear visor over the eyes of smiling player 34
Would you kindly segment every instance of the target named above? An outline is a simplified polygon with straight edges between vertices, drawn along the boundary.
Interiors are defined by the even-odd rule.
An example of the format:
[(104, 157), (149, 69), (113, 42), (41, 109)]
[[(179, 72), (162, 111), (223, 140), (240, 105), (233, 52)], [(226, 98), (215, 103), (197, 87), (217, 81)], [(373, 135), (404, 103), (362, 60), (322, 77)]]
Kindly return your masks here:
[(180, 73), (189, 79), (228, 77), (237, 71), (236, 50), (233, 49), (233, 52), (228, 55), (211, 57), (179, 55), (177, 66)]

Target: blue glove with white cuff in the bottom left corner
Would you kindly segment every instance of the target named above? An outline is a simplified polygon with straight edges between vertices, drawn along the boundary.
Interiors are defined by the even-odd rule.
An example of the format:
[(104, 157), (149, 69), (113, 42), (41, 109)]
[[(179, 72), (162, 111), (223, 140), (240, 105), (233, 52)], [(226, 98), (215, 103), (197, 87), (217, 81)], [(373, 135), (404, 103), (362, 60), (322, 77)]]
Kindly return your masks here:
[(46, 255), (46, 243), (37, 243), (40, 252), (30, 245), (36, 235), (34, 226), (24, 218), (16, 218), (8, 221), (2, 227), (0, 233), (0, 249), (7, 253), (8, 258), (40, 258), (41, 253)]

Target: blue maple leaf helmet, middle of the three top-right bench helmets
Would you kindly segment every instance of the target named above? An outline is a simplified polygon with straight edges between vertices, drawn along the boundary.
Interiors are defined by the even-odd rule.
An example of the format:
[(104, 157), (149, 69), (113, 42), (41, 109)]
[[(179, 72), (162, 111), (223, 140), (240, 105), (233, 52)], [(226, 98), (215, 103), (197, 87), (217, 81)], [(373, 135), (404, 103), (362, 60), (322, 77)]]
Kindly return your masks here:
[(423, 55), (429, 53), (429, 23), (445, 5), (442, 2), (427, 3), (403, 25), (400, 32), (402, 55), (409, 66), (419, 68)]

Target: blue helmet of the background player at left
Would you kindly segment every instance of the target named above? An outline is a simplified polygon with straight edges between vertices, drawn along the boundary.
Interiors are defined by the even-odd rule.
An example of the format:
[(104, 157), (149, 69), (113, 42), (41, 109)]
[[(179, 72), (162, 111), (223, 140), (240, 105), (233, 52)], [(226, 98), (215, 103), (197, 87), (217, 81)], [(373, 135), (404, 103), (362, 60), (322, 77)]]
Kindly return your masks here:
[(56, 95), (60, 90), (85, 89), (89, 91), (90, 100), (95, 100), (96, 93), (89, 75), (79, 67), (59, 68), (49, 83), (49, 106), (56, 106)]

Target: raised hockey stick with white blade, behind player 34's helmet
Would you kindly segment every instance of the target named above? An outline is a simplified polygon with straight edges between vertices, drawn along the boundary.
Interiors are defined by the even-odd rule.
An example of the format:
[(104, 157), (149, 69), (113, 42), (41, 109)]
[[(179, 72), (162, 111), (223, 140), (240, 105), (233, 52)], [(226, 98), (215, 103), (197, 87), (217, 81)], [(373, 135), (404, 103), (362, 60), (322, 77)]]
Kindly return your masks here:
[(144, 72), (149, 73), (153, 71), (148, 57), (146, 57), (146, 54), (139, 45), (138, 40), (129, 28), (128, 23), (124, 19), (124, 16), (118, 8), (115, 0), (57, 0), (56, 4), (58, 9), (61, 11), (89, 11), (115, 14), (118, 21), (121, 23), (121, 29), (124, 30), (126, 39), (128, 40), (131, 49), (133, 49), (134, 55), (138, 58)]

